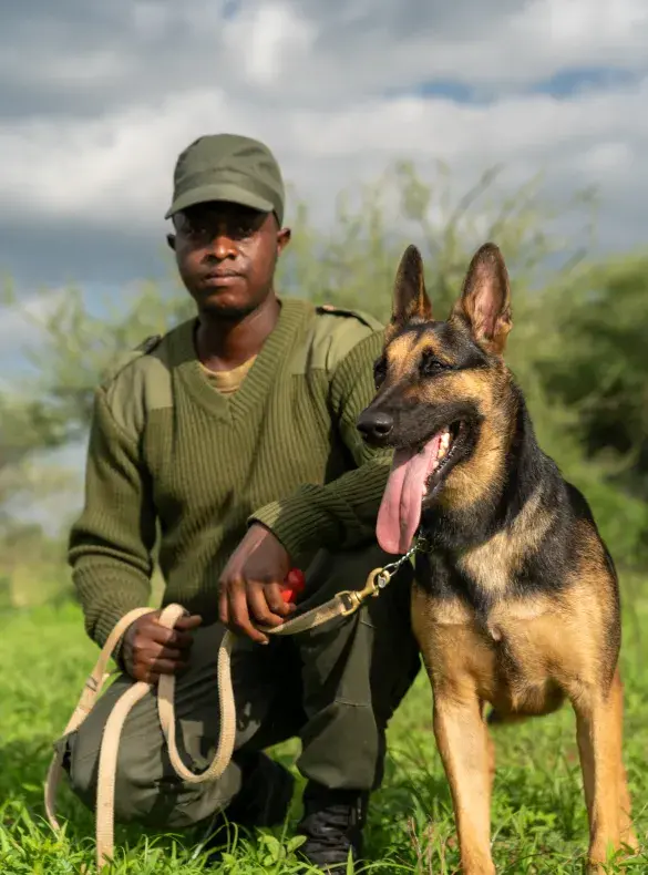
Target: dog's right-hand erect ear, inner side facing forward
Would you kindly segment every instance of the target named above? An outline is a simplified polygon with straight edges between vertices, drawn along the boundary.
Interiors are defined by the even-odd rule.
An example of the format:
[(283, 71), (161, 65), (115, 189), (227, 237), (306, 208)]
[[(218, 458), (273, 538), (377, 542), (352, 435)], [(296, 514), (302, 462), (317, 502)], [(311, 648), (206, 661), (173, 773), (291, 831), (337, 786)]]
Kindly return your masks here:
[(452, 315), (467, 321), (474, 339), (484, 349), (502, 354), (513, 321), (508, 271), (495, 244), (484, 244), (473, 256)]

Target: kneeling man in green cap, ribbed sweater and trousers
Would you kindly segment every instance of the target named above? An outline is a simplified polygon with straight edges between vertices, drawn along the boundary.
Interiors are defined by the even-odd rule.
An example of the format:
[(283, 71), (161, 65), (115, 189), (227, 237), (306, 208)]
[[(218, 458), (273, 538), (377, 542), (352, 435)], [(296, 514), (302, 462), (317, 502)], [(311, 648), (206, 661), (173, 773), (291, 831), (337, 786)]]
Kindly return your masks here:
[(411, 567), (352, 618), (282, 639), (256, 627), (291, 612), (280, 589), (291, 567), (306, 570), (315, 604), (362, 588), (393, 559), (374, 541), (390, 459), (356, 429), (373, 395), (382, 331), (370, 317), (275, 294), (290, 231), (265, 145), (200, 137), (181, 154), (174, 182), (168, 243), (197, 318), (144, 343), (97, 389), (70, 563), (99, 645), (127, 610), (148, 604), (157, 535), (164, 604), (191, 616), (173, 631), (158, 611), (134, 622), (117, 656), (123, 673), (60, 744), (72, 787), (92, 805), (116, 699), (135, 680), (177, 673), (181, 750), (204, 769), (218, 739), (217, 648), (234, 629), (229, 768), (215, 783), (179, 781), (147, 697), (122, 735), (116, 815), (175, 830), (218, 822), (227, 807), (246, 827), (281, 823), (292, 778), (261, 751), (298, 735), (302, 851), (329, 871), (361, 852), (385, 725), (419, 668)]

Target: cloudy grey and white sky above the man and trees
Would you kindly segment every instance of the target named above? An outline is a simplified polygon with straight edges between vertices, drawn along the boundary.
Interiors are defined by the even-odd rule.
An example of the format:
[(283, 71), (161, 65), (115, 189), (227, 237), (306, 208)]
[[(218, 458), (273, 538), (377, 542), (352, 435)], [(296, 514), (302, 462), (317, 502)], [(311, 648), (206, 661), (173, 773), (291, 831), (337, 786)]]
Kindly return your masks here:
[[(466, 185), (504, 162), (549, 192), (596, 185), (601, 246), (631, 246), (648, 233), (648, 3), (3, 3), (0, 270), (25, 300), (163, 274), (173, 164), (218, 131), (265, 140), (322, 220), (395, 157), (442, 158)], [(0, 310), (0, 368), (19, 329)]]

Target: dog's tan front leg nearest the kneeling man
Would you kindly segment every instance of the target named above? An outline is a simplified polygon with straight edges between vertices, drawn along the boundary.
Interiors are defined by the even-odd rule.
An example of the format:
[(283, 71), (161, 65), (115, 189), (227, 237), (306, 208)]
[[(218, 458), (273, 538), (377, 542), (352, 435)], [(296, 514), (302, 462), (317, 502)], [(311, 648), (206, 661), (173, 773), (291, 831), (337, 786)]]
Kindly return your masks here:
[(450, 783), (464, 875), (495, 875), (491, 758), (476, 692), (434, 690), (434, 735)]

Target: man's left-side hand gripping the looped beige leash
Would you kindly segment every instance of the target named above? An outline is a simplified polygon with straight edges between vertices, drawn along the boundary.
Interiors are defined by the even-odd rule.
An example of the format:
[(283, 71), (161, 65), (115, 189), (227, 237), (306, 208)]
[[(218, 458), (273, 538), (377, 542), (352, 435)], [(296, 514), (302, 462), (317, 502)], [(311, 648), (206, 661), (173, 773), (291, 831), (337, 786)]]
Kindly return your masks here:
[(181, 617), (174, 629), (158, 621), (160, 610), (152, 610), (128, 626), (122, 658), (126, 672), (135, 680), (157, 683), (161, 675), (177, 675), (187, 668), (194, 642), (192, 632), (202, 624), (194, 615)]

